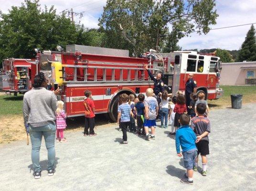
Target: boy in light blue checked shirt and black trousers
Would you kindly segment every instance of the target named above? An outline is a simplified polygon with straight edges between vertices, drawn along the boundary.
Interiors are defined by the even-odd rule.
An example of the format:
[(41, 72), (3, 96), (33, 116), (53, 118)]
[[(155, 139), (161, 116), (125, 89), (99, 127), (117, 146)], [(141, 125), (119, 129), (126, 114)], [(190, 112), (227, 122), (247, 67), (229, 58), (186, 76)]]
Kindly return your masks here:
[[(117, 124), (121, 126), (121, 129), (123, 131), (123, 141), (120, 142), (120, 145), (127, 145), (127, 127), (130, 123), (130, 116), (133, 117), (133, 113), (131, 112), (131, 107), (128, 104), (128, 95), (127, 94), (121, 94), (120, 99), (122, 101), (122, 104), (118, 106), (118, 116), (117, 116)], [(120, 120), (121, 119), (121, 120)], [(119, 122), (120, 120), (120, 122)]]

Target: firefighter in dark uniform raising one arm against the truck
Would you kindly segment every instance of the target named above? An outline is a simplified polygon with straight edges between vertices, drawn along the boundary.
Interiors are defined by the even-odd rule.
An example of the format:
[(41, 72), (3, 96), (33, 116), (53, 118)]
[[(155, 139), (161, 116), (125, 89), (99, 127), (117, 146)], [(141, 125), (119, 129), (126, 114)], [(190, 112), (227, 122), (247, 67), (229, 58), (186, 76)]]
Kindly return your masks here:
[[(160, 102), (161, 102), (161, 99), (160, 99), (160, 95), (159, 93), (160, 92), (163, 92), (164, 91), (164, 84), (163, 84), (163, 81), (161, 80), (161, 77), (162, 77), (162, 74), (161, 73), (158, 73), (157, 76), (154, 76), (149, 68), (148, 68), (148, 65), (144, 65), (144, 68), (147, 70), (148, 74), (149, 74), (149, 77), (151, 78), (151, 80), (154, 81), (154, 94), (155, 94), (155, 98), (157, 99), (157, 102), (158, 102), (158, 106), (160, 105)], [(160, 113), (160, 112), (159, 112)], [(159, 118), (159, 116), (158, 116)]]

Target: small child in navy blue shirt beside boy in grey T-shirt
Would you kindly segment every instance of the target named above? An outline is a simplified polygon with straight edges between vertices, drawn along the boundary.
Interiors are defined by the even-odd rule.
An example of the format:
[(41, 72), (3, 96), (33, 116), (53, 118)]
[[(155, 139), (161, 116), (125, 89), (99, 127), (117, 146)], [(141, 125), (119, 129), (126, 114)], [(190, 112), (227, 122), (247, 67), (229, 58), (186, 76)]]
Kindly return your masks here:
[[(144, 106), (144, 99), (145, 96), (143, 94), (139, 94), (138, 95), (138, 99), (139, 102), (137, 104), (135, 104), (135, 108), (137, 111), (137, 135), (141, 135), (142, 137), (146, 137), (146, 133), (145, 133), (145, 129), (144, 129), (144, 110), (145, 110), (145, 106)], [(141, 130), (142, 129), (142, 133)]]

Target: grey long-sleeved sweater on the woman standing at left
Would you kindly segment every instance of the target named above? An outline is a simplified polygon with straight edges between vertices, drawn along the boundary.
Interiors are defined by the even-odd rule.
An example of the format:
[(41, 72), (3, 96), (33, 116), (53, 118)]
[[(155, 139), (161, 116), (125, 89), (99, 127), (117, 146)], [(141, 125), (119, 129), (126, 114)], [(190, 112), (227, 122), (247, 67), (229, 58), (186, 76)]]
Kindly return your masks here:
[(57, 97), (44, 87), (32, 88), (23, 97), (24, 124), (41, 127), (50, 123), (55, 124)]

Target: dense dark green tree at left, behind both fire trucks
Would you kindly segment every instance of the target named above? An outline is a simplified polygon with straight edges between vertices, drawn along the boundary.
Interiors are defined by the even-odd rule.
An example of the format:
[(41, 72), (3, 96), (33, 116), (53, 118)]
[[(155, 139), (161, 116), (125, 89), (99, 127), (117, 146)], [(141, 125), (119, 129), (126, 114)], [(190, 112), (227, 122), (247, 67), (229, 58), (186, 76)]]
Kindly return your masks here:
[(0, 60), (7, 57), (34, 58), (34, 48), (55, 50), (67, 44), (101, 46), (103, 34), (75, 25), (53, 6), (41, 9), (39, 0), (25, 0), (9, 13), (0, 12)]

